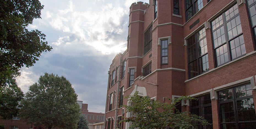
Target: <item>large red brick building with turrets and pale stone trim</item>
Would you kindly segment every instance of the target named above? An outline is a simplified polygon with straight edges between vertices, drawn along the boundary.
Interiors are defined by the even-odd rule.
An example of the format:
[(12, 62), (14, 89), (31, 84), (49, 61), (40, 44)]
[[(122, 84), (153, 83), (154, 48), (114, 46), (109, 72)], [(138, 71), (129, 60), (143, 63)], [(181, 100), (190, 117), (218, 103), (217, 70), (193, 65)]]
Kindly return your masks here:
[(192, 96), (180, 110), (208, 127), (256, 128), (256, 0), (149, 0), (130, 6), (127, 50), (113, 59), (105, 128), (129, 117), (123, 96)]

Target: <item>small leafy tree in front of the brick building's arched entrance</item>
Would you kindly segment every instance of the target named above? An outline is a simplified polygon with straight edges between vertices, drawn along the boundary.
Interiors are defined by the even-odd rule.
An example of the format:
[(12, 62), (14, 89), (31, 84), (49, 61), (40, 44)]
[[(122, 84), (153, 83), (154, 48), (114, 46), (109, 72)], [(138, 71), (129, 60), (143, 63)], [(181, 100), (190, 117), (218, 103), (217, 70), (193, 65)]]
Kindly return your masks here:
[(126, 112), (132, 115), (126, 117), (123, 122), (132, 122), (130, 129), (193, 129), (192, 122), (208, 124), (202, 117), (187, 112), (174, 112), (177, 103), (183, 99), (193, 99), (191, 97), (182, 96), (179, 99), (169, 99), (169, 102), (161, 103), (151, 101), (148, 96), (140, 97), (136, 92), (127, 98), (132, 105), (124, 105), (124, 107), (126, 107)]

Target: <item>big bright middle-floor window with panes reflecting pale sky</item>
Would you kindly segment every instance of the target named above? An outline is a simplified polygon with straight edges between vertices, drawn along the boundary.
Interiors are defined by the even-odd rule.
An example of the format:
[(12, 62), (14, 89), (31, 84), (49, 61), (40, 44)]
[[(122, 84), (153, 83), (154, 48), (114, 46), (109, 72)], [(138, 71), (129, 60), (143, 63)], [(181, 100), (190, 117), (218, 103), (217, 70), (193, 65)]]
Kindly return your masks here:
[(216, 66), (246, 54), (237, 4), (211, 22)]

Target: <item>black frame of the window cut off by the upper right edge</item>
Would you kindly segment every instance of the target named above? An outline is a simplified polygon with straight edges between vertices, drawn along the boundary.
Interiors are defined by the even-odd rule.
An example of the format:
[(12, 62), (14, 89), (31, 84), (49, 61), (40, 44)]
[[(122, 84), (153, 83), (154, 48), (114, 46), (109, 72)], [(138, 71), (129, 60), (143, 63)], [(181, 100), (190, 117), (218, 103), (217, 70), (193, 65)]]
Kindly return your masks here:
[[(246, 0), (246, 4), (247, 4), (247, 9), (248, 9), (248, 12), (249, 12), (249, 21), (250, 21), (250, 26), (251, 26), (251, 29), (252, 29), (252, 32), (254, 33), (253, 35), (253, 38), (254, 38), (254, 50), (256, 50), (256, 19), (255, 19), (255, 25), (253, 25), (253, 20), (252, 20), (252, 17), (256, 15), (254, 14), (252, 16), (252, 13), (251, 13), (251, 10), (250, 8), (253, 7), (253, 6), (256, 6), (256, 1), (255, 2), (252, 2), (250, 5), (249, 5), (249, 1)], [(256, 9), (255, 9), (256, 10)]]

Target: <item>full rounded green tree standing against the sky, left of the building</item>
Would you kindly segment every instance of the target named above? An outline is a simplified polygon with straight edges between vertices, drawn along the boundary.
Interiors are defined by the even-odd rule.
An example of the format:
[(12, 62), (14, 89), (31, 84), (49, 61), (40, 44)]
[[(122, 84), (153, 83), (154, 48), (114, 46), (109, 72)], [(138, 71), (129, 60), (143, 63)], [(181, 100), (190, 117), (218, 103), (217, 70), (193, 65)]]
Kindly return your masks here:
[(75, 129), (80, 117), (77, 94), (65, 77), (45, 73), (29, 86), (20, 116), (38, 127)]

